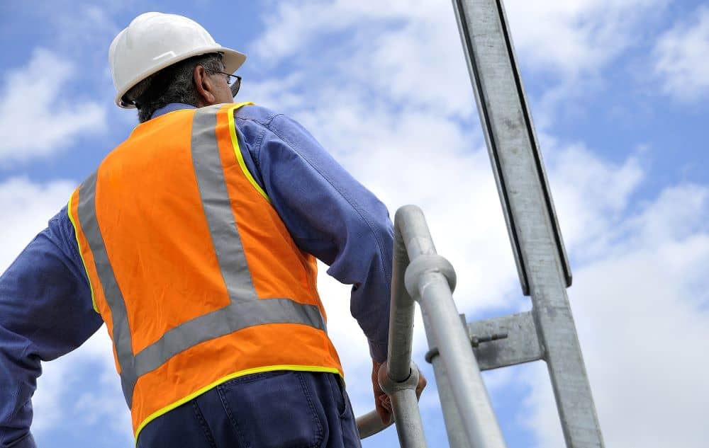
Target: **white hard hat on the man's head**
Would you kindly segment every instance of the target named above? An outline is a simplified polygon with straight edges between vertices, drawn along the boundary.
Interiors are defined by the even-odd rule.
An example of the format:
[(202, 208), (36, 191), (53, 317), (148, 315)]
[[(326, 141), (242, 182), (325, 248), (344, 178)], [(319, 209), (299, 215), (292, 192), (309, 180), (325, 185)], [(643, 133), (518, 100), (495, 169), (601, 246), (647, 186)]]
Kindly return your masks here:
[(246, 55), (214, 41), (199, 23), (175, 14), (143, 13), (118, 33), (108, 49), (116, 105), (135, 84), (169, 65), (199, 54), (221, 53), (227, 73), (241, 67)]

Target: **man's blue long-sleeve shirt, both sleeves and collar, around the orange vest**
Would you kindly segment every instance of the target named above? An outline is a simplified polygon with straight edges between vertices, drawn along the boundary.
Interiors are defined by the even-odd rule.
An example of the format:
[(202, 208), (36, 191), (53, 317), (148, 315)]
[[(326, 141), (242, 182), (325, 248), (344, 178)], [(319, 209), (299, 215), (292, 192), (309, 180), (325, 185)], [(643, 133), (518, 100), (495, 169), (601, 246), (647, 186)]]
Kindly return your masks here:
[[(171, 104), (153, 117), (182, 108)], [(350, 299), (376, 361), (386, 359), (393, 226), (386, 207), (301, 125), (258, 106), (235, 125), (247, 168), (296, 244), (354, 285)], [(0, 447), (34, 447), (30, 398), (40, 361), (79, 347), (103, 323), (66, 207), (0, 277)]]

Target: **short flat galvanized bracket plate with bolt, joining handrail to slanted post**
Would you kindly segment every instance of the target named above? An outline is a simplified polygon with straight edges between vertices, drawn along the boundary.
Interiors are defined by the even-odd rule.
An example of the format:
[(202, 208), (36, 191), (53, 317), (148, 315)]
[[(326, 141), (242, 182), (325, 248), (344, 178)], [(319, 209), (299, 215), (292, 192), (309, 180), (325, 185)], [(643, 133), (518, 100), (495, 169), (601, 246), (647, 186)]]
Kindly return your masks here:
[(544, 357), (530, 312), (469, 322), (468, 333), (471, 336), (507, 334), (507, 338), (492, 340), (473, 348), (481, 370), (542, 360)]

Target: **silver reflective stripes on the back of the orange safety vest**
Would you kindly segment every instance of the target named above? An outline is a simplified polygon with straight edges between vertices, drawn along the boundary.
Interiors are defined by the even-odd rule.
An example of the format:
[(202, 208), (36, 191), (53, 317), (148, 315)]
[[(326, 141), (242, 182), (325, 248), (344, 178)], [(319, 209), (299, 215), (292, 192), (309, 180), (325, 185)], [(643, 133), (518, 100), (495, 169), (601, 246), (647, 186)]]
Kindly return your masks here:
[(121, 385), (128, 407), (133, 401), (133, 389), (138, 377), (162, 366), (179, 352), (206, 340), (265, 323), (299, 323), (325, 331), (325, 321), (318, 306), (299, 304), (291, 299), (259, 299), (256, 294), (219, 156), (216, 137), (219, 108), (220, 105), (215, 105), (196, 110), (192, 124), (191, 151), (203, 212), (230, 299), (228, 306), (172, 328), (155, 343), (134, 355), (125, 301), (108, 260), (96, 219), (96, 173), (79, 188), (79, 222), (94, 255), (96, 272), (111, 309), (113, 343), (121, 365)]

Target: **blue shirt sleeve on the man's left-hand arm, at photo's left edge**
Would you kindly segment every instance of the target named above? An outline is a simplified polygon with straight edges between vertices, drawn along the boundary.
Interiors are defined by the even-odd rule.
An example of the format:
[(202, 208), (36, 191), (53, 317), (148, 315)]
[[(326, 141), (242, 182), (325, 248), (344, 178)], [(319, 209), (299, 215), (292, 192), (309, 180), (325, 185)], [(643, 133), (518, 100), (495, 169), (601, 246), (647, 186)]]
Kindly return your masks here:
[(101, 323), (65, 207), (0, 276), (1, 448), (35, 447), (30, 398), (40, 362), (79, 347)]

